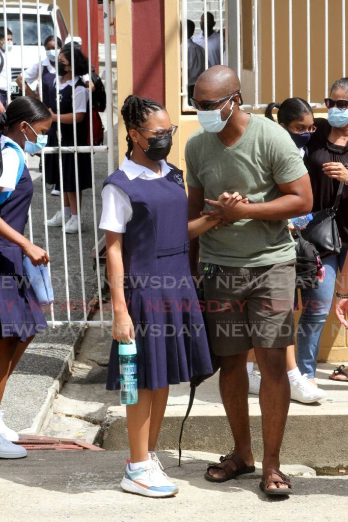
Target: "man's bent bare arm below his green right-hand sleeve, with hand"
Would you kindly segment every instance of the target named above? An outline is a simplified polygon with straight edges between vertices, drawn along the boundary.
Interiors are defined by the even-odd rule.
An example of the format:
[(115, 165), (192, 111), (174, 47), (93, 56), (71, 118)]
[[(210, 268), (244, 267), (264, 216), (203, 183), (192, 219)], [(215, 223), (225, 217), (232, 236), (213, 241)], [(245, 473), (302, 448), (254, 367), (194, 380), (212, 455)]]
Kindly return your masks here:
[(267, 203), (243, 203), (231, 195), (228, 199), (214, 201), (205, 199), (207, 205), (215, 207), (217, 210), (206, 210), (201, 212), (202, 216), (209, 216), (210, 219), (222, 219), (222, 226), (231, 221), (240, 219), (260, 219), (278, 221), (280, 219), (290, 219), (297, 216), (304, 216), (313, 207), (313, 194), (310, 186), (308, 173), (291, 183), (278, 185), (283, 196), (268, 201)]

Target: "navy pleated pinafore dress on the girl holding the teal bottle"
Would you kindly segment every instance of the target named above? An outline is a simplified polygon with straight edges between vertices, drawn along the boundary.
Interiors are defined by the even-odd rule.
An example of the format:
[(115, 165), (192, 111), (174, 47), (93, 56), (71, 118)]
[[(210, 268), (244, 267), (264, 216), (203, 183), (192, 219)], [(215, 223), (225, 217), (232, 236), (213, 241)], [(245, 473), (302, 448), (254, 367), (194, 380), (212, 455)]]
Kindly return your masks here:
[[(124, 288), (137, 344), (138, 387), (156, 390), (212, 373), (208, 341), (188, 260), (188, 209), (182, 171), (129, 180), (116, 170), (105, 182), (130, 199), (123, 234)], [(117, 284), (117, 282), (115, 282)], [(119, 389), (113, 340), (106, 388)]]

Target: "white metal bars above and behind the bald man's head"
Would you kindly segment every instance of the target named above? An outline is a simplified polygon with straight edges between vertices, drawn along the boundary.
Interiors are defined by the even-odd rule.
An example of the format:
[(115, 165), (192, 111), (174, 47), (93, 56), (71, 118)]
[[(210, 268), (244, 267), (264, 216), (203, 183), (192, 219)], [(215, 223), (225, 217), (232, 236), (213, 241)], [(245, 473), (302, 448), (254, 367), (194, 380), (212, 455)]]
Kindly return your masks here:
[[(215, 19), (219, 17), (219, 20), (217, 21), (217, 27), (220, 30), (220, 63), (223, 64), (225, 62), (225, 65), (229, 65), (230, 67), (234, 68), (239, 76), (239, 78), (242, 79), (242, 89), (243, 89), (243, 75), (245, 73), (245, 70), (248, 70), (247, 81), (248, 81), (248, 87), (250, 86), (250, 81), (253, 85), (253, 93), (249, 94), (248, 101), (244, 104), (244, 108), (248, 109), (264, 109), (267, 104), (270, 101), (275, 101), (277, 99), (277, 88), (279, 89), (279, 85), (283, 83), (283, 78), (279, 76), (279, 56), (280, 51), (277, 49), (277, 42), (276, 42), (276, 33), (275, 30), (277, 28), (277, 22), (279, 21), (279, 17), (281, 14), (282, 19), (288, 19), (288, 29), (289, 34), (282, 36), (284, 38), (285, 48), (287, 46), (287, 49), (289, 50), (289, 55), (285, 57), (286, 61), (289, 65), (289, 89), (286, 93), (288, 97), (293, 96), (302, 96), (303, 98), (306, 98), (308, 103), (310, 103), (311, 106), (314, 107), (322, 107), (323, 102), (320, 100), (323, 100), (323, 98), (326, 98), (328, 95), (328, 89), (329, 89), (329, 60), (332, 57), (330, 56), (330, 48), (329, 48), (329, 16), (330, 13), (337, 14), (337, 10), (340, 12), (340, 27), (336, 26), (333, 27), (333, 22), (331, 22), (330, 25), (330, 34), (334, 32), (335, 38), (341, 38), (341, 32), (342, 32), (342, 76), (346, 75), (346, 3), (347, 0), (341, 0), (341, 3), (339, 3), (337, 0), (324, 0), (324, 3), (321, 4), (320, 10), (322, 9), (322, 13), (320, 13), (320, 16), (323, 16), (324, 19), (324, 27), (319, 27), (321, 24), (318, 21), (315, 22), (315, 15), (318, 14), (318, 5), (315, 2), (315, 0), (306, 0), (302, 3), (301, 8), (303, 11), (301, 11), (301, 15), (298, 14), (296, 11), (296, 17), (303, 16), (305, 19), (305, 34), (298, 35), (296, 31), (298, 30), (296, 27), (296, 19), (294, 17), (293, 12), (293, 0), (284, 0), (284, 2), (275, 2), (274, 0), (270, 0), (270, 11), (267, 10), (267, 13), (265, 10), (263, 10), (263, 3), (259, 2), (258, 0), (250, 0), (250, 6), (251, 6), (251, 17), (252, 19), (249, 20), (251, 22), (252, 27), (252, 34), (248, 35), (252, 42), (252, 69), (244, 69), (244, 62), (243, 62), (243, 53), (245, 50), (243, 49), (243, 22), (245, 21), (245, 18), (248, 16), (245, 13), (243, 13), (243, 7), (245, 7), (245, 4), (241, 2), (241, 0), (229, 0), (224, 3), (225, 5), (225, 16), (223, 16), (223, 2), (222, 0), (219, 0), (219, 2), (208, 2), (207, 0), (202, 0), (202, 13), (203, 13), (203, 19), (205, 26), (207, 26), (207, 12), (208, 7), (214, 7), (215, 11)], [(187, 31), (186, 31), (186, 24), (187, 24), (187, 13), (190, 12), (190, 7), (193, 9), (194, 6), (197, 6), (198, 2), (195, 0), (181, 0), (181, 22), (182, 22), (182, 92), (181, 96), (183, 99), (183, 111), (192, 111), (192, 107), (189, 106), (188, 100), (187, 100), (187, 84), (188, 84), (188, 76), (189, 73), (187, 71), (188, 67), (188, 56), (187, 56)], [(298, 6), (297, 6), (298, 8)], [(263, 56), (261, 53), (261, 43), (263, 39), (265, 39), (265, 31), (262, 32), (262, 23), (264, 20), (262, 19), (263, 16), (269, 16), (269, 12), (271, 15), (270, 20), (270, 31), (267, 32), (267, 49), (268, 45), (270, 45), (271, 49), (271, 66), (269, 70), (269, 74), (265, 74), (265, 69), (262, 67), (262, 60)], [(249, 13), (249, 11), (248, 11)], [(320, 18), (318, 18), (319, 20)], [(268, 26), (269, 26), (269, 20), (267, 20)], [(249, 27), (250, 25), (248, 25)], [(223, 55), (223, 28), (225, 28), (225, 48), (226, 48), (226, 56)], [(315, 85), (314, 78), (316, 74), (315, 70), (315, 58), (316, 58), (316, 49), (311, 46), (311, 39), (313, 39), (314, 31), (316, 32), (317, 38), (322, 38), (324, 42), (324, 51), (322, 56), (322, 64), (323, 64), (323, 76), (325, 81), (325, 86), (322, 91), (322, 94), (318, 96), (318, 89)], [(340, 35), (337, 35), (337, 31), (340, 32)], [(244, 37), (246, 37), (246, 34), (244, 34)], [(278, 34), (279, 38), (279, 34)], [(304, 52), (301, 55), (294, 56), (294, 45), (293, 42), (295, 41), (295, 38), (298, 40), (298, 38), (301, 38), (304, 43), (305, 49)], [(288, 39), (288, 45), (286, 43)], [(279, 41), (279, 40), (278, 40)], [(295, 41), (296, 42), (296, 41)], [(205, 49), (205, 68), (208, 68), (208, 46), (209, 46), (209, 40), (207, 32), (205, 31), (205, 38), (204, 38), (204, 49)], [(335, 46), (332, 45), (332, 53), (336, 52), (337, 49), (337, 41), (335, 43)], [(263, 51), (262, 51), (263, 52)], [(268, 51), (267, 51), (268, 52)], [(284, 53), (282, 55), (282, 60), (284, 58)], [(305, 76), (304, 76), (304, 85), (305, 88), (302, 89), (301, 93), (294, 92), (294, 58), (296, 61), (296, 64), (298, 64), (299, 60), (302, 60), (306, 63), (305, 66)], [(278, 60), (278, 62), (277, 62)], [(340, 61), (340, 58), (339, 58)], [(295, 65), (296, 65), (295, 64)], [(286, 67), (286, 65), (285, 65)], [(282, 70), (284, 70), (284, 64), (282, 63)], [(263, 73), (263, 77), (262, 77)], [(332, 79), (332, 78), (331, 78)], [(268, 84), (271, 86), (271, 94), (269, 96), (269, 99), (262, 99), (262, 82), (268, 82)], [(312, 85), (313, 82), (313, 85)], [(315, 89), (313, 88), (315, 85)], [(249, 89), (250, 90), (250, 89)], [(316, 94), (313, 94), (313, 92), (316, 92)], [(282, 93), (284, 90), (282, 89)], [(284, 99), (284, 94), (282, 95)], [(286, 96), (285, 96), (286, 97)], [(315, 97), (317, 99), (315, 99)], [(319, 98), (319, 99), (318, 99)]]

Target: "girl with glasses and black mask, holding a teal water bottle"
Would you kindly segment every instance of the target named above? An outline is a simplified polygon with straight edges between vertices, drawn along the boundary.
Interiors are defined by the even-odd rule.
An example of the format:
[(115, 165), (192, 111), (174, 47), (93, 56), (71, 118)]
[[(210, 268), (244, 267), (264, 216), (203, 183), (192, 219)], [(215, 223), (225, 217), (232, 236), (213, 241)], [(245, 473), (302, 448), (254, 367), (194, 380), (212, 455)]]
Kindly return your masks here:
[(131, 95), (121, 111), (128, 150), (102, 191), (114, 325), (107, 389), (119, 389), (118, 342), (136, 339), (138, 404), (127, 406), (130, 462), (121, 487), (178, 492), (154, 453), (169, 385), (212, 372), (188, 262), (188, 241), (216, 222), (188, 223), (182, 171), (165, 162), (176, 127), (159, 103)]

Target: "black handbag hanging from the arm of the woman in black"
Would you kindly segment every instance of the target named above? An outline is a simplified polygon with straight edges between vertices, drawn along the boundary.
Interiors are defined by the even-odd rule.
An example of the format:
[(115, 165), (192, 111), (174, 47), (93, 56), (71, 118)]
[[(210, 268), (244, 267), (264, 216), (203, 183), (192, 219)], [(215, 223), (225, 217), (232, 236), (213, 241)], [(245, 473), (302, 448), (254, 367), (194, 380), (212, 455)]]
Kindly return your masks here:
[(343, 186), (344, 182), (341, 181), (333, 207), (313, 212), (313, 220), (301, 231), (302, 237), (317, 247), (321, 259), (337, 256), (341, 252), (342, 243), (335, 216)]

